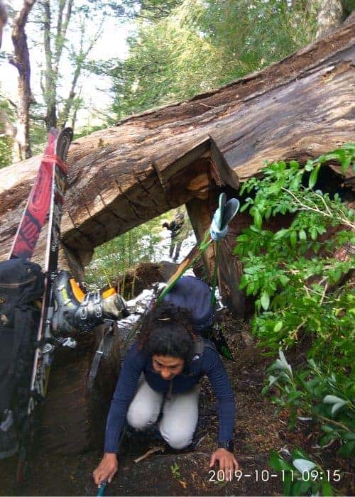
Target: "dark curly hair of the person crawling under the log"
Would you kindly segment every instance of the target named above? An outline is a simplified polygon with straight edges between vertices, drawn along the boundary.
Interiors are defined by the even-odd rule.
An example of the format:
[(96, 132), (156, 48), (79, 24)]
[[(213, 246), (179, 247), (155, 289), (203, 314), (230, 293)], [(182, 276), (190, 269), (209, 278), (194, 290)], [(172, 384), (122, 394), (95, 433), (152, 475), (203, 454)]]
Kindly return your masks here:
[(138, 349), (150, 356), (178, 357), (187, 364), (193, 356), (194, 342), (190, 313), (162, 303), (143, 321)]

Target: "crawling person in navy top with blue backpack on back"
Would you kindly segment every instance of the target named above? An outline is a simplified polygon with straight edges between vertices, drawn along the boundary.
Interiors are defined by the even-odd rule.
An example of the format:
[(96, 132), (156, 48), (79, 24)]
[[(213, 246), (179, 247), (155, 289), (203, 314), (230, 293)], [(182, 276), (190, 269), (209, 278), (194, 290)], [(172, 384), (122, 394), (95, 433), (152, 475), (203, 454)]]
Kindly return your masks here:
[(209, 287), (187, 276), (180, 278), (167, 297), (148, 316), (121, 368), (107, 417), (104, 457), (93, 473), (97, 485), (110, 482), (116, 474), (126, 421), (138, 430), (158, 422), (170, 447), (190, 445), (198, 420), (198, 383), (204, 375), (219, 403), (218, 444), (210, 466), (218, 461), (226, 480), (238, 469), (232, 442), (234, 394), (219, 354), (196, 331), (211, 322), (212, 309), (206, 305)]

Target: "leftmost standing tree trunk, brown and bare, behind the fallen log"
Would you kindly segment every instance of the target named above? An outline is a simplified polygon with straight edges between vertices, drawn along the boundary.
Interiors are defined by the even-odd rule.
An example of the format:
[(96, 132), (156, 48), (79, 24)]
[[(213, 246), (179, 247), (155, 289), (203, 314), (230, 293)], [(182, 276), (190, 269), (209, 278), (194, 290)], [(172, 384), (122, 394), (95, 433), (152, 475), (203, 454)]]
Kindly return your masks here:
[(18, 126), (16, 142), (21, 160), (31, 157), (30, 145), (30, 104), (31, 104), (31, 64), (28, 53), (27, 35), (25, 33), (28, 13), (30, 13), (35, 0), (24, 0), (21, 11), (13, 21), (12, 43), (15, 49), (11, 64), (18, 70)]

